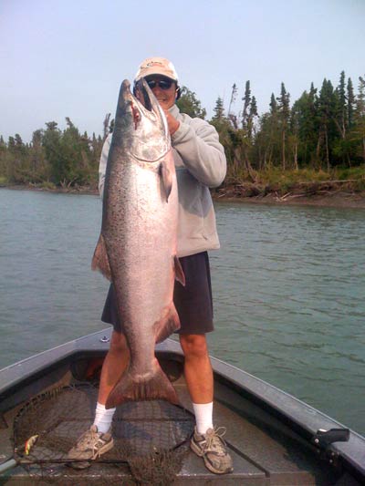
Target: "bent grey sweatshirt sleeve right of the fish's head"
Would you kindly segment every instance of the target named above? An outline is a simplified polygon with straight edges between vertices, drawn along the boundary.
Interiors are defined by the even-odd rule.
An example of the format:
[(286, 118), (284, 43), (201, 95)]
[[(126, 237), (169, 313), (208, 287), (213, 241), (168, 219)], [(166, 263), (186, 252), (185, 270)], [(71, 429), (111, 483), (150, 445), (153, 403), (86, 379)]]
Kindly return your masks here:
[(192, 119), (191, 124), (179, 121), (172, 147), (195, 179), (208, 187), (219, 186), (224, 181), (226, 160), (216, 129), (203, 119)]

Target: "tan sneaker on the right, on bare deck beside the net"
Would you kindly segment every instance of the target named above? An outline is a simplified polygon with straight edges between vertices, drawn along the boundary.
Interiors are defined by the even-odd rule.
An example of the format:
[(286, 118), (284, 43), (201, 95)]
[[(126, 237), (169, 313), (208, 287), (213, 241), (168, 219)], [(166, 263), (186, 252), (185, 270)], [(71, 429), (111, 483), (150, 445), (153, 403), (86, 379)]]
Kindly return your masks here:
[(215, 474), (225, 474), (234, 470), (232, 458), (226, 448), (223, 436), (224, 427), (208, 429), (205, 434), (198, 434), (196, 427), (190, 442), (191, 449), (203, 457), (205, 466)]

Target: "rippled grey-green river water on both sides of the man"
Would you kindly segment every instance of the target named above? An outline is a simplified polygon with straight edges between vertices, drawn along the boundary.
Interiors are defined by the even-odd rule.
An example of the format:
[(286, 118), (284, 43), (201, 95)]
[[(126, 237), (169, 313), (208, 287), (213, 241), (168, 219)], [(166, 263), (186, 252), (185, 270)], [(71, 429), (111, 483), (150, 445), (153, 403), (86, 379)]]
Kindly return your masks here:
[[(211, 354), (365, 435), (363, 210), (215, 204)], [(97, 196), (0, 190), (0, 367), (98, 331)]]

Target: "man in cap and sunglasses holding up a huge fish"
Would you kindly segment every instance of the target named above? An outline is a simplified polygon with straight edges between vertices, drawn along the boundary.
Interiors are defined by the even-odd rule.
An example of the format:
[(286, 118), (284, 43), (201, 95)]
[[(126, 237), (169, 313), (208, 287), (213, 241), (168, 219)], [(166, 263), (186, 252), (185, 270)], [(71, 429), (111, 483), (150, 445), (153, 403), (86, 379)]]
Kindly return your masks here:
[[(203, 119), (180, 113), (178, 76), (172, 63), (162, 57), (145, 59), (134, 79), (145, 78), (165, 112), (172, 139), (179, 191), (178, 256), (185, 286), (175, 283), (173, 301), (181, 321), (178, 331), (184, 353), (184, 375), (196, 419), (191, 448), (217, 474), (233, 470), (224, 440), (213, 425), (214, 381), (205, 333), (213, 331), (213, 304), (208, 250), (219, 248), (209, 187), (224, 181), (226, 160), (214, 127)], [(111, 136), (104, 143), (99, 164), (102, 196)], [(110, 433), (115, 408), (106, 409), (111, 389), (129, 363), (129, 348), (120, 323), (113, 286), (101, 316), (113, 325), (110, 350), (105, 358), (94, 424), (69, 451), (70, 459), (92, 460), (113, 447)]]

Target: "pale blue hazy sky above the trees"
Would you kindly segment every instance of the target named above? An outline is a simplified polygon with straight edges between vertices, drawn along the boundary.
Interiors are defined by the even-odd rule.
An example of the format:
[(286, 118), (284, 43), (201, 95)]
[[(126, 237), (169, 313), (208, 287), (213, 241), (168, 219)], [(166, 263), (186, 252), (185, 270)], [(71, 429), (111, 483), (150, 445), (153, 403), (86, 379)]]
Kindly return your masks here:
[(365, 0), (0, 0), (0, 135), (47, 121), (102, 132), (120, 82), (168, 57), (208, 117), (251, 81), (260, 112), (284, 81), (291, 101), (345, 70), (365, 74)]

